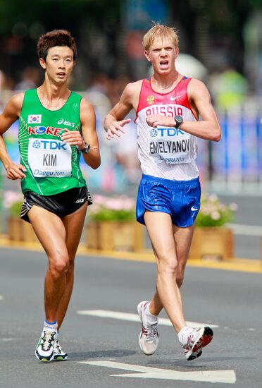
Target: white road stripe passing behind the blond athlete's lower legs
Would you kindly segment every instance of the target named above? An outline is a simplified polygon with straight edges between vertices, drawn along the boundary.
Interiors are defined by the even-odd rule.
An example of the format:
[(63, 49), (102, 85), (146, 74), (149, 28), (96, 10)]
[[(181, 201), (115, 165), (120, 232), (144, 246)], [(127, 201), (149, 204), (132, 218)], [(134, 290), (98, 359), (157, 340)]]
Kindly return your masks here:
[[(125, 320), (130, 322), (140, 322), (139, 316), (137, 314), (130, 313), (120, 313), (120, 311), (110, 311), (110, 310), (79, 310), (77, 314), (80, 315), (92, 315), (93, 317), (101, 318), (113, 318), (114, 320)], [(158, 325), (162, 326), (172, 326), (172, 323), (168, 318), (158, 318)], [(189, 327), (218, 327), (218, 325), (209, 325), (208, 323), (201, 322), (189, 322), (187, 321), (187, 326)]]

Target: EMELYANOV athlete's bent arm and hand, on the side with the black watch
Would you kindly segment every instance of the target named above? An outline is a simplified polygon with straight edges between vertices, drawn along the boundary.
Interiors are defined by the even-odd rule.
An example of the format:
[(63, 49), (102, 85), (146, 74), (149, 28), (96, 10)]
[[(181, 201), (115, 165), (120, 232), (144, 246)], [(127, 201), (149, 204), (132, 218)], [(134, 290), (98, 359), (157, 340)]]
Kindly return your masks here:
[[(202, 120), (184, 120), (180, 125), (180, 129), (205, 140), (219, 141), (221, 137), (220, 124), (211, 104), (210, 94), (204, 83), (196, 79), (190, 80), (187, 87), (187, 95), (194, 115), (196, 117), (200, 115)], [(156, 126), (175, 127), (175, 119), (173, 117), (161, 116), (159, 114), (147, 116), (146, 122), (154, 128)]]

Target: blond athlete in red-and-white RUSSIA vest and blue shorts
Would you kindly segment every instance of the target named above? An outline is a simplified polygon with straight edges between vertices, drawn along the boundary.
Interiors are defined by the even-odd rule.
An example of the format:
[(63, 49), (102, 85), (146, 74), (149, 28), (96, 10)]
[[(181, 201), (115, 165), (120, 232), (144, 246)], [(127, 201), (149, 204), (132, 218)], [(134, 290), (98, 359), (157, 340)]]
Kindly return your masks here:
[(213, 338), (210, 327), (187, 327), (180, 294), (200, 207), (196, 138), (220, 140), (220, 125), (204, 83), (175, 68), (179, 53), (175, 30), (156, 24), (144, 35), (143, 45), (154, 75), (125, 87), (104, 128), (108, 140), (125, 133), (129, 122), (125, 116), (135, 109), (143, 172), (137, 221), (146, 225), (158, 269), (154, 297), (137, 306), (140, 348), (147, 355), (156, 351), (158, 314), (164, 308), (187, 360), (193, 360)]

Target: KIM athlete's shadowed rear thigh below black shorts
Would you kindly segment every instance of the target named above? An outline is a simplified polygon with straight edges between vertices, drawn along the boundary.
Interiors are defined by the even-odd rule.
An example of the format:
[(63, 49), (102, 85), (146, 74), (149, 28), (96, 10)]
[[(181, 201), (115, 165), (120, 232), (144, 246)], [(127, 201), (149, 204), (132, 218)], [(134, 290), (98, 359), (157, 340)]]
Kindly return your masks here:
[(80, 242), (82, 230), (85, 224), (87, 214), (87, 202), (75, 212), (63, 217), (62, 222), (66, 230), (66, 247), (69, 259), (75, 258), (75, 253)]

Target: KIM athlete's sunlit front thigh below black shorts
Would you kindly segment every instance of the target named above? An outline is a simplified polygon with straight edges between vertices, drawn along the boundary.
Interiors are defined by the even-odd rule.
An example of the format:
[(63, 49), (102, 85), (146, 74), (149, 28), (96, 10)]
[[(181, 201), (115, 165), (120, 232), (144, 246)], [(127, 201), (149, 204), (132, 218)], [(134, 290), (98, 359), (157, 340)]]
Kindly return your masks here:
[(56, 214), (39, 206), (32, 206), (28, 218), (49, 259), (67, 257), (66, 229)]

